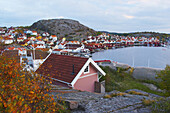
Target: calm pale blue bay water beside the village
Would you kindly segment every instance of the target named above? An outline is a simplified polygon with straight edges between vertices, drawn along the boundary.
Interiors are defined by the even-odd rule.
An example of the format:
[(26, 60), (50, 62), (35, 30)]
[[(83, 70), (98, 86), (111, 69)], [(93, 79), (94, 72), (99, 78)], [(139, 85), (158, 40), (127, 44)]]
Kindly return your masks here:
[(111, 60), (134, 67), (164, 69), (170, 65), (170, 49), (163, 47), (128, 47), (110, 49), (92, 54), (95, 60)]

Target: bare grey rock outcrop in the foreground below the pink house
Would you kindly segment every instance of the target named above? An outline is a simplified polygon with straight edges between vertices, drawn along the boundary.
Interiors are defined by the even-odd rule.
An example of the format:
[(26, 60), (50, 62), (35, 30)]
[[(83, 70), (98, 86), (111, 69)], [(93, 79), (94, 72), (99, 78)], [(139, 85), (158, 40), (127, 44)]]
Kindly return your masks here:
[[(54, 91), (53, 95), (58, 95), (68, 103), (72, 113), (150, 113), (151, 106), (144, 105), (143, 100), (153, 100), (162, 98), (161, 96), (147, 93), (138, 89), (131, 89), (125, 92), (112, 91), (107, 93), (90, 93), (86, 91), (66, 90), (64, 92)], [(63, 90), (62, 90), (63, 91)], [(138, 92), (132, 94), (130, 92)], [(105, 98), (113, 93), (124, 93), (124, 95)], [(57, 99), (54, 97), (54, 99)]]

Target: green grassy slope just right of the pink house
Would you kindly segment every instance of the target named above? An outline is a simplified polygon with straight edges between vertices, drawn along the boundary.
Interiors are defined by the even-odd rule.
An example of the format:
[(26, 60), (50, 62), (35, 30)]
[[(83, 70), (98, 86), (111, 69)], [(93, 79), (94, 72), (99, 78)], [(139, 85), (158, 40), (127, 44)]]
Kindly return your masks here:
[(131, 74), (133, 69), (130, 69), (129, 73), (125, 71), (127, 69), (118, 68), (117, 71), (111, 69), (110, 67), (101, 67), (105, 72), (106, 76), (101, 78), (102, 80), (106, 81), (106, 91), (110, 92), (113, 90), (118, 90), (124, 92), (129, 89), (139, 89), (148, 93), (153, 93), (160, 96), (165, 96), (162, 92), (157, 92), (149, 89), (147, 86), (143, 85), (142, 83), (152, 83), (156, 86), (159, 86), (157, 82), (149, 81), (149, 80), (136, 80), (134, 79)]

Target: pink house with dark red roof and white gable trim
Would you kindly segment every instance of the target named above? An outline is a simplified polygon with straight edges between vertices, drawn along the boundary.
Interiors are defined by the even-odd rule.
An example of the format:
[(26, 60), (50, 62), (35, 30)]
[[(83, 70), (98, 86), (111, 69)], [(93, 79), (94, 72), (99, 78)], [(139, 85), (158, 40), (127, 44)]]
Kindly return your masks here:
[(91, 59), (51, 54), (36, 70), (49, 75), (53, 84), (95, 92), (95, 82), (106, 73)]

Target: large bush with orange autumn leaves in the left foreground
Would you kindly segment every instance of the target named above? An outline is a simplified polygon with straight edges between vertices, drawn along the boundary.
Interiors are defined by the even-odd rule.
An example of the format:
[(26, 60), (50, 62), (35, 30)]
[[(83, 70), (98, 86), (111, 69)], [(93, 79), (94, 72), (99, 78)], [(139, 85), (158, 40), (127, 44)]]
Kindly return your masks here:
[(28, 73), (14, 58), (0, 56), (0, 112), (61, 112), (48, 94), (50, 81)]

